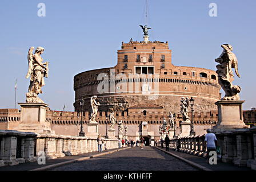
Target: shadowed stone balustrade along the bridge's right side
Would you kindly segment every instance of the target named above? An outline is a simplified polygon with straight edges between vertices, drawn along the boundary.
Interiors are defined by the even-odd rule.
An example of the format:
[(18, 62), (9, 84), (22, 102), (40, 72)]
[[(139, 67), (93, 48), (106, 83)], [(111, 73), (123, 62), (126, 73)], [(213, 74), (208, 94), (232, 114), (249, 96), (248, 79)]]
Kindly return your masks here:
[[(215, 132), (221, 148), (221, 160), (256, 170), (256, 127)], [(170, 148), (205, 157), (205, 135), (181, 137), (170, 140)]]

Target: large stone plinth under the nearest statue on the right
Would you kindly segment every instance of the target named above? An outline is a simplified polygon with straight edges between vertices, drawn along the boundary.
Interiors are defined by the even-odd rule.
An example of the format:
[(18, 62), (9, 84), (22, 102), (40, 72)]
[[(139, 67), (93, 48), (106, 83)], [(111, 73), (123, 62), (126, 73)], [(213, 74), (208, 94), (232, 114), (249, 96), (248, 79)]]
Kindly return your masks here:
[(213, 127), (213, 131), (223, 131), (230, 129), (247, 128), (243, 122), (242, 104), (245, 101), (215, 102), (218, 106), (218, 124)]

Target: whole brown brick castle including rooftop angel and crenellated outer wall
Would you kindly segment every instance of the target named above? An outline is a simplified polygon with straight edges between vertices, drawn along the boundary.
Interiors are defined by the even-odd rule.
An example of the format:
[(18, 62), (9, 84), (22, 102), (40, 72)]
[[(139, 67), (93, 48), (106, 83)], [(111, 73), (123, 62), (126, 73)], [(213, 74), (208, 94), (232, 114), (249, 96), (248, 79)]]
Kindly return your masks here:
[[(210, 69), (173, 65), (169, 43), (151, 42), (147, 34), (149, 28), (141, 27), (143, 41), (122, 42), (114, 67), (74, 76), (75, 111), (46, 110), (46, 124), (55, 134), (78, 136), (81, 123), (87, 131), (93, 112), (93, 96), (97, 96), (99, 104), (95, 121), (99, 123), (98, 133), (102, 136), (107, 135), (109, 115), (113, 112), (115, 137), (118, 137), (117, 124), (122, 121), (127, 126), (125, 138), (137, 140), (143, 136), (147, 144), (150, 140), (158, 140), (161, 138), (159, 127), (164, 120), (169, 125), (170, 112), (176, 113), (174, 128), (175, 134), (179, 135), (182, 97), (195, 100), (193, 124), (196, 135), (205, 134), (205, 129), (217, 124), (218, 112), (214, 103), (220, 100), (221, 89), (217, 73)], [(17, 129), (20, 113), (18, 109), (1, 109), (0, 128)]]

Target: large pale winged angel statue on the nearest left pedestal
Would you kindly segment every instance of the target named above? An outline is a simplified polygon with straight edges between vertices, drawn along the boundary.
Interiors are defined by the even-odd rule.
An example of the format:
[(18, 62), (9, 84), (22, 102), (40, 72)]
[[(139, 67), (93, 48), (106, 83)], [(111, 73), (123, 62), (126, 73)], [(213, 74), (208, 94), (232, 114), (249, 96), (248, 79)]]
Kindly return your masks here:
[(37, 95), (42, 92), (42, 86), (45, 85), (43, 77), (48, 77), (48, 64), (49, 62), (43, 63), (41, 57), (45, 49), (43, 47), (37, 47), (33, 55), (34, 47), (30, 47), (29, 53), (27, 54), (27, 60), (29, 61), (29, 71), (27, 71), (26, 78), (30, 77), (29, 92), (26, 93), (26, 102), (42, 102), (41, 98)]

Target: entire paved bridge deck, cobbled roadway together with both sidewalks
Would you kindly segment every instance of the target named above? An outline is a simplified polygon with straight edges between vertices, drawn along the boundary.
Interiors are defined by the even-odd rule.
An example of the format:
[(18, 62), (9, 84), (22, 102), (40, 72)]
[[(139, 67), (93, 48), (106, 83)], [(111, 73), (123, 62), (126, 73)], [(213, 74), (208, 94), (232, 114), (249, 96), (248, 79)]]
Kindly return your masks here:
[(250, 171), (247, 167), (218, 163), (209, 165), (199, 156), (175, 152), (166, 152), (165, 148), (140, 147), (90, 152), (74, 156), (65, 156), (46, 160), (46, 165), (37, 162), (23, 163), (17, 166), (0, 167), (0, 171)]

